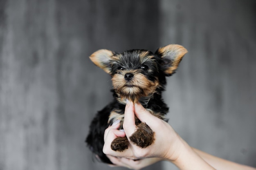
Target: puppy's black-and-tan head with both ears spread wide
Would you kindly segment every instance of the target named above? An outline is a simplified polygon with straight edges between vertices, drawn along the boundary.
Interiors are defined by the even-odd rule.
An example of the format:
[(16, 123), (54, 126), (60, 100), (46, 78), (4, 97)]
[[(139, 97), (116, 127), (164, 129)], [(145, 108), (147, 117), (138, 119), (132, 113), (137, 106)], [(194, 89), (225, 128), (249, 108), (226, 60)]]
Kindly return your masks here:
[(137, 102), (162, 88), (165, 76), (175, 73), (186, 53), (183, 46), (170, 44), (155, 53), (138, 49), (115, 53), (101, 49), (90, 59), (111, 75), (113, 89), (121, 100)]

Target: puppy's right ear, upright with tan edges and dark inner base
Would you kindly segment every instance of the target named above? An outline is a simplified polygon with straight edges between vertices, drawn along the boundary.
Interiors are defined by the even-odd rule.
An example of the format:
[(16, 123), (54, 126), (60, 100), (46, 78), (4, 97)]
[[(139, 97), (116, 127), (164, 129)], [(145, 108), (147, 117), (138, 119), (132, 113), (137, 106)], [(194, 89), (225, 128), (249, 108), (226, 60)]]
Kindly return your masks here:
[(175, 73), (182, 57), (187, 52), (183, 46), (177, 44), (170, 44), (157, 49), (156, 54), (161, 57), (160, 65), (166, 76)]

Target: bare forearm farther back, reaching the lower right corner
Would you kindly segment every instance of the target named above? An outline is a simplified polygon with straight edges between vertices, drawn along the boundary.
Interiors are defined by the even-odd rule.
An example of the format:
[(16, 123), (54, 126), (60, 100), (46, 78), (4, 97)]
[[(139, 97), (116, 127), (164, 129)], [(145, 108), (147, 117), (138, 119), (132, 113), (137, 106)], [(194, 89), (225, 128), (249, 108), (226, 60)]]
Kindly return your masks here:
[(219, 157), (202, 152), (201, 150), (193, 148), (193, 150), (202, 158), (204, 161), (209, 163), (216, 170), (256, 170), (249, 166), (241, 165), (235, 162), (227, 161)]

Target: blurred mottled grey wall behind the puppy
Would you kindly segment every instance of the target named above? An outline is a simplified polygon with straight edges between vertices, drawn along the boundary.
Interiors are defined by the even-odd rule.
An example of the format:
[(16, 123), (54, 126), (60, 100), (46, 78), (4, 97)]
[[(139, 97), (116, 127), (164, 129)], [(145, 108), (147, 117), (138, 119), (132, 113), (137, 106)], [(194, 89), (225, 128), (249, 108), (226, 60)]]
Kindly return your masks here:
[[(112, 170), (85, 146), (112, 100), (98, 49), (189, 53), (168, 78), (191, 146), (256, 167), (255, 0), (0, 0), (0, 170)], [(177, 170), (168, 162), (146, 170)]]

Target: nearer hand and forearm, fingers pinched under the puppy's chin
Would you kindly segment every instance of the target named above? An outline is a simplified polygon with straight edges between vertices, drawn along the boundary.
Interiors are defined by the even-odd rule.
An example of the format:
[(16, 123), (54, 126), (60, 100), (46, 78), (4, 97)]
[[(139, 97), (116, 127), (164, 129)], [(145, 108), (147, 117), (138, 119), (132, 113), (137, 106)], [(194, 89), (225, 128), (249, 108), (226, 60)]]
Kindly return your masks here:
[[(129, 148), (123, 152), (111, 150), (110, 144), (117, 136), (126, 135), (127, 138), (136, 130), (135, 117), (155, 132), (155, 141), (147, 148), (139, 148), (130, 143)], [(118, 125), (115, 125), (118, 126)], [(125, 110), (124, 132), (112, 126), (105, 131), (103, 152), (114, 157), (126, 157), (128, 159), (144, 159), (157, 157), (174, 163), (180, 170), (214, 170), (202, 159), (165, 121), (151, 115), (141, 104), (128, 102)]]

